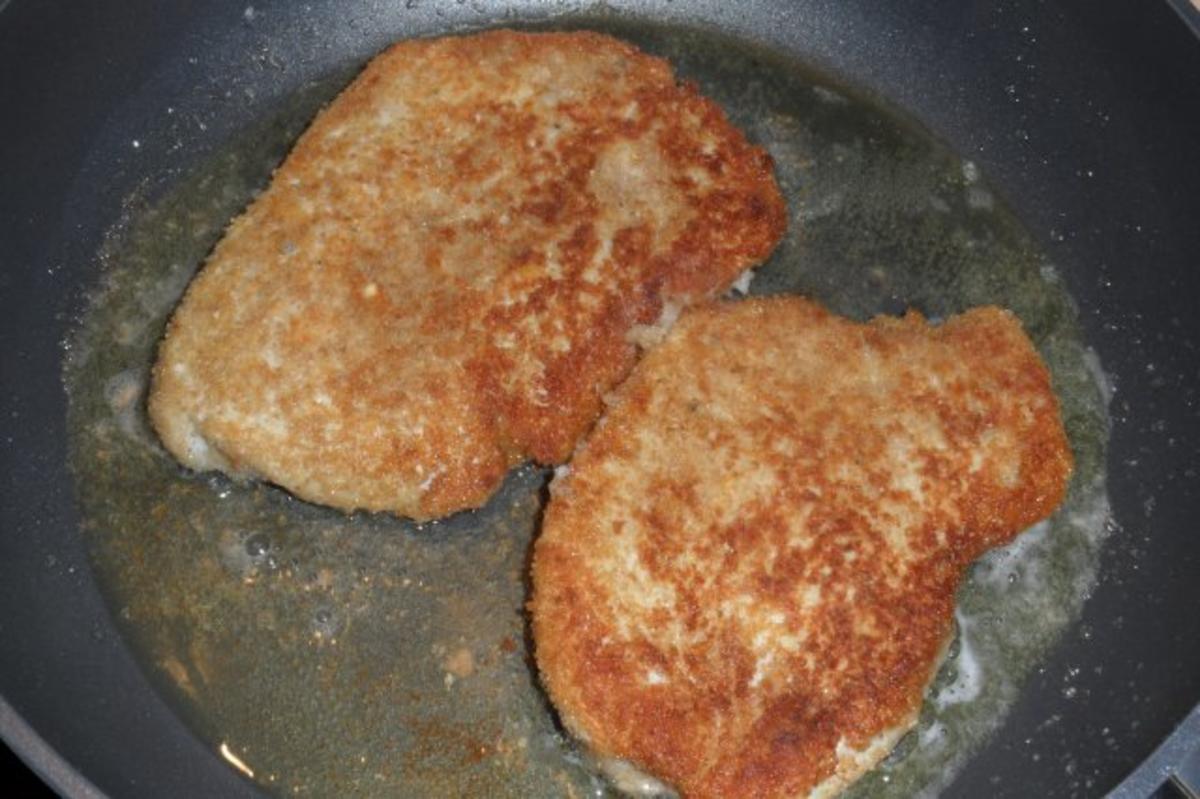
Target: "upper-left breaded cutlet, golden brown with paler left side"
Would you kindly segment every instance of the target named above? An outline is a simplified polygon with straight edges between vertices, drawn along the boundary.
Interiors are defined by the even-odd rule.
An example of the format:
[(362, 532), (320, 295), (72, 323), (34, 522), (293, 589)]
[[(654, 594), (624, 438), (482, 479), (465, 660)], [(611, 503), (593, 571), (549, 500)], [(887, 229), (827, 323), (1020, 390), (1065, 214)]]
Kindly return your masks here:
[(667, 300), (785, 209), (670, 66), (589, 32), (401, 42), (301, 137), (173, 318), (150, 411), (198, 469), (418, 518), (554, 463)]

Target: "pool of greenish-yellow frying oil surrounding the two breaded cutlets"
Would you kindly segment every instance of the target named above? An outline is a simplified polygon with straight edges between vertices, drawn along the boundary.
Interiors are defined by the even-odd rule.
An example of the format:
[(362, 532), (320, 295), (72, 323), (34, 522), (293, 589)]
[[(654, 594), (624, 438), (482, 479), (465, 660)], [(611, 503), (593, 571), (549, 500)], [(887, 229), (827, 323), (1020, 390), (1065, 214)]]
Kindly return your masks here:
[[(1078, 463), (1068, 500), (973, 570), (918, 728), (853, 793), (944, 786), (1096, 577), (1109, 425), (1074, 304), (985, 176), (876, 100), (713, 32), (557, 26), (666, 56), (772, 152), (791, 227), (751, 293), (803, 293), (858, 319), (997, 304), (1046, 359)], [(269, 793), (604, 794), (529, 662), (527, 557), (545, 470), (520, 468), (482, 510), (418, 527), (187, 474), (146, 423), (154, 348), (187, 281), (359, 66), (311, 84), (164, 196), (131, 198), (112, 232), (65, 373), (95, 571), (163, 695)]]

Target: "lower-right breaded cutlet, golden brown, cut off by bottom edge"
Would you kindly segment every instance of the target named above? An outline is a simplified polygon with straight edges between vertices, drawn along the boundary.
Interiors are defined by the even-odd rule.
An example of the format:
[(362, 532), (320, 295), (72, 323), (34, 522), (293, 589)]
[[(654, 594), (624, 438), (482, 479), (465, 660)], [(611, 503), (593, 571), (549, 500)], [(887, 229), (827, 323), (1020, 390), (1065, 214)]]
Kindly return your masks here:
[[(1008, 312), (685, 312), (552, 486), (530, 601), (569, 728), (688, 797), (804, 797), (916, 721), (966, 566), (1061, 501)], [(884, 738), (886, 740), (886, 738)]]

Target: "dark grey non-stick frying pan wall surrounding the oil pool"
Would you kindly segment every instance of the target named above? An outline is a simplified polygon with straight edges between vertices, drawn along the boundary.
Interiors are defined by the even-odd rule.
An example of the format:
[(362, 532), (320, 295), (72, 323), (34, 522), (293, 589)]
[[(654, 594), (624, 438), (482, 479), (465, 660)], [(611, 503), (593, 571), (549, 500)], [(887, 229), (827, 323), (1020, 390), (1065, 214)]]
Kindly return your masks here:
[[(575, 11), (0, 1), (0, 734), (56, 791), (257, 795), (148, 679), (79, 531), (61, 343), (128, 198), (394, 40)], [(1196, 13), (1116, 0), (605, 11), (719, 29), (884, 98), (973, 160), (1057, 265), (1115, 389), (1114, 529), (1081, 618), (947, 795), (1166, 791), (1200, 747)]]

